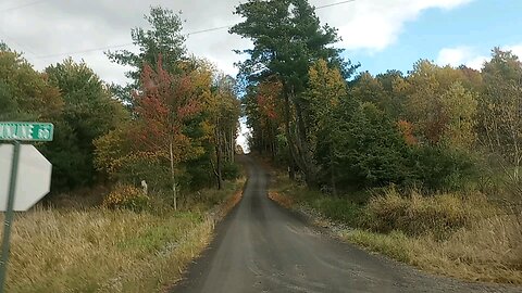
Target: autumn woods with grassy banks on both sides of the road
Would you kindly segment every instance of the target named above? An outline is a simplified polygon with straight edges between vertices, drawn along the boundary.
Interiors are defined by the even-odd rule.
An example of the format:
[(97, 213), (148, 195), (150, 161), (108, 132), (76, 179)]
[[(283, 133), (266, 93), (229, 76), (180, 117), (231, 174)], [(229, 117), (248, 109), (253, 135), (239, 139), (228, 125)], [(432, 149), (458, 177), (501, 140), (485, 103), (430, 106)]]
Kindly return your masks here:
[(164, 292), (240, 200), (241, 119), (271, 200), (422, 269), (522, 283), (515, 54), (373, 75), (307, 0), (234, 13), (228, 33), (252, 43), (235, 77), (191, 54), (182, 15), (161, 7), (130, 29), (137, 50), (104, 52), (127, 85), (72, 58), (37, 71), (0, 42), (0, 120), (55, 127), (36, 144), (51, 193), (16, 217), (12, 276), (25, 277), (9, 292)]

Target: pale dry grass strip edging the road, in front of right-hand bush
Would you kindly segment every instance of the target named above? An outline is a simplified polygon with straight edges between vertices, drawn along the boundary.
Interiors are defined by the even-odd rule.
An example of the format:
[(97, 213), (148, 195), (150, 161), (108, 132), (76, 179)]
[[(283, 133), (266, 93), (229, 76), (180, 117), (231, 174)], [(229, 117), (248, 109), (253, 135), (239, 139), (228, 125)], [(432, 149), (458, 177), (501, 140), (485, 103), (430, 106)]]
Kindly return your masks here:
[(522, 226), (514, 216), (494, 216), (461, 229), (446, 241), (432, 235), (407, 237), (345, 231), (349, 242), (435, 273), (472, 281), (522, 284)]

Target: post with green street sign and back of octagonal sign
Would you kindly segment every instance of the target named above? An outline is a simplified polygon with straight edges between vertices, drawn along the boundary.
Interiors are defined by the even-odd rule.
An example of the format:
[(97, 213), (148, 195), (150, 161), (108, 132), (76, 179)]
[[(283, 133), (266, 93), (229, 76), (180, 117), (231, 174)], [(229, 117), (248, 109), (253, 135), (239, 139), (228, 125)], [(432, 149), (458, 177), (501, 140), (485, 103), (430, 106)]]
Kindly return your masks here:
[[(5, 276), (9, 262), (11, 227), (13, 224), (14, 211), (27, 211), (39, 199), (41, 199), (49, 192), (50, 187), (50, 176), (52, 168), (51, 164), (47, 162), (47, 160), (33, 145), (22, 146), (21, 141), (52, 141), (53, 131), (54, 127), (52, 124), (0, 122), (0, 141), (12, 141), (12, 143), (14, 144), (14, 146), (11, 148), (9, 148), (10, 145), (0, 145), (0, 161), (9, 162), (9, 160), (7, 158), (9, 157), (9, 150), (12, 149), (11, 164), (8, 163), (0, 165), (0, 168), (5, 168), (4, 166), (10, 166), (9, 190), (1, 190), (0, 186), (0, 200), (3, 200), (3, 202), (5, 203), (4, 207), (0, 205), (0, 209), (5, 212), (2, 239), (2, 256), (0, 258), (0, 293), (4, 292)], [(27, 149), (28, 151), (25, 152), (25, 149)], [(20, 164), (21, 157), (23, 163), (22, 166)], [(21, 183), (17, 181), (20, 167), (24, 169), (22, 170), (22, 173), (24, 174), (25, 178), (28, 178), (32, 175), (34, 176), (35, 171), (44, 177), (39, 178), (39, 181), (35, 182), (35, 184), (32, 184), (30, 182)], [(8, 173), (9, 170), (7, 169), (0, 169), (0, 180), (7, 180)], [(49, 179), (47, 180), (46, 178)], [(30, 178), (28, 179), (30, 180)], [(2, 183), (2, 186), (7, 186), (4, 182), (0, 181), (0, 183)], [(17, 188), (17, 184), (21, 187), (21, 189)], [(34, 190), (34, 192), (30, 192), (29, 188), (29, 192), (23, 192), (27, 190), (27, 186), (36, 186), (39, 190)], [(20, 190), (22, 190), (22, 192), (18, 192)], [(20, 198), (20, 200), (16, 195)]]

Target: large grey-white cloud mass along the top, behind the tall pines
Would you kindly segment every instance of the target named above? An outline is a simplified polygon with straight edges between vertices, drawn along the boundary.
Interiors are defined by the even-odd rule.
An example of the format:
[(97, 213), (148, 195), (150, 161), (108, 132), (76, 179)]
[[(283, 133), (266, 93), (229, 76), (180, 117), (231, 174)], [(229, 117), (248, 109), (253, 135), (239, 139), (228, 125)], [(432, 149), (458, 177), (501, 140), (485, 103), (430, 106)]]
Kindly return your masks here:
[[(232, 12), (240, 0), (49, 0), (17, 10), (16, 1), (0, 5), (0, 38), (12, 48), (27, 52), (29, 62), (38, 69), (57, 63), (66, 55), (41, 59), (64, 52), (85, 51), (130, 41), (132, 27), (144, 26), (142, 15), (149, 5), (161, 4), (183, 11), (186, 33), (232, 25), (240, 21)], [(407, 22), (414, 21), (427, 9), (452, 9), (472, 0), (357, 0), (318, 10), (323, 23), (339, 28), (341, 47), (349, 50), (378, 51), (397, 41)], [(321, 7), (337, 0), (310, 0)], [(226, 29), (191, 35), (187, 47), (196, 55), (216, 63), (227, 74), (235, 75), (233, 63), (240, 56), (232, 50), (250, 46), (250, 41), (232, 36)], [(124, 49), (129, 49), (132, 46)], [(125, 68), (111, 64), (103, 51), (72, 54), (85, 59), (103, 78), (123, 82)]]

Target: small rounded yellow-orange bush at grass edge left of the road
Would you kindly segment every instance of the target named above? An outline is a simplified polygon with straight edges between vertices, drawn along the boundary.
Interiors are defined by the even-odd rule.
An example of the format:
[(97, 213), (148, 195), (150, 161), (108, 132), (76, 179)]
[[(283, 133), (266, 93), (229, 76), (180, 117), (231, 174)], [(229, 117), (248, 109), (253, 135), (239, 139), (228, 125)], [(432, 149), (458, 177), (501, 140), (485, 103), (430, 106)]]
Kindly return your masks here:
[(149, 206), (149, 196), (139, 188), (120, 184), (103, 200), (107, 208), (125, 208), (141, 212)]

